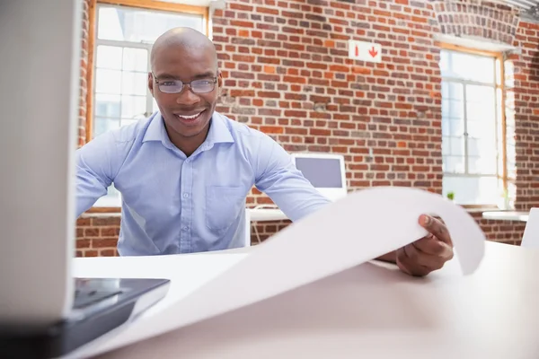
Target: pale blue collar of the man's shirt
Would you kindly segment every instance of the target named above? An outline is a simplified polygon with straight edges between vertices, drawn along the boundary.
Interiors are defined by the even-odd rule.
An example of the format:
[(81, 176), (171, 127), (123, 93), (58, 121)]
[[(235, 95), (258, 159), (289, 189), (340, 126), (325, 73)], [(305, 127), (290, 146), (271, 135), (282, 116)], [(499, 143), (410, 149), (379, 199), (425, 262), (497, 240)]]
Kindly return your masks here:
[[(166, 133), (166, 128), (164, 127), (163, 117), (159, 111), (155, 112), (150, 118), (150, 124), (146, 129), (146, 134), (144, 135), (142, 142), (147, 141), (161, 141), (163, 145), (167, 148), (172, 148), (174, 145), (171, 143), (171, 140)], [(211, 118), (211, 125), (209, 127), (208, 136), (206, 137), (206, 144), (208, 147), (212, 147), (214, 144), (220, 143), (234, 143), (234, 138), (230, 133), (230, 129), (226, 126), (225, 118), (216, 111)]]

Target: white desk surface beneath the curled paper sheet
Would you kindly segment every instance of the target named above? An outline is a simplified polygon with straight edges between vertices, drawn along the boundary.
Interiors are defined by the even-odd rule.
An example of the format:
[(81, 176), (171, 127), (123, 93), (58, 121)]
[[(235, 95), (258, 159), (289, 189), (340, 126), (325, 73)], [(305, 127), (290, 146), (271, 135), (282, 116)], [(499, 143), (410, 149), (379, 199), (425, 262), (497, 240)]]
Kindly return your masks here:
[(488, 242), (473, 276), (457, 267), (366, 263), (102, 357), (539, 358), (539, 250)]

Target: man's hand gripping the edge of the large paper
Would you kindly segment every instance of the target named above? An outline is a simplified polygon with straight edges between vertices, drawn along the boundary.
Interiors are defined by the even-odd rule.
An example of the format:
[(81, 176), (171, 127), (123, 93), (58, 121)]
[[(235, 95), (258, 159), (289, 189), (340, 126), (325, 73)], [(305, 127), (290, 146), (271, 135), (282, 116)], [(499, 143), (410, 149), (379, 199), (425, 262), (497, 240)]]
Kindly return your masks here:
[(429, 215), (421, 215), (420, 224), (429, 235), (396, 251), (397, 266), (411, 276), (427, 276), (453, 258), (453, 242), (446, 224)]

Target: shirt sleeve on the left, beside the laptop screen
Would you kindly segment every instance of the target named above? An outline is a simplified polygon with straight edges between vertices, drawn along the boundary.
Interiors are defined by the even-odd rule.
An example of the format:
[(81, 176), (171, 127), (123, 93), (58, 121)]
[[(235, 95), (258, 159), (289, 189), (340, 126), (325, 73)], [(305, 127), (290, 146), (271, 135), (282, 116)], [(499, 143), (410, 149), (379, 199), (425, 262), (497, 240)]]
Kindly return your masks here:
[(75, 153), (76, 218), (107, 194), (119, 170), (119, 151), (112, 131), (97, 136)]

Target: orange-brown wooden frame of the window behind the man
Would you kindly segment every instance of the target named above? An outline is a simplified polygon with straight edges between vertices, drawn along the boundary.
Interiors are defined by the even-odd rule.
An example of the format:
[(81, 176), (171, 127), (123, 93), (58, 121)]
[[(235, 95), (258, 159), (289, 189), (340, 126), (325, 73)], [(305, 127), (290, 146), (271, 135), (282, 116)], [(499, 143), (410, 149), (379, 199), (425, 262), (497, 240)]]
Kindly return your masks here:
[[(150, 11), (163, 11), (169, 13), (189, 13), (202, 15), (205, 22), (205, 32), (209, 34), (209, 6), (196, 6), (189, 4), (179, 4), (164, 2), (159, 0), (90, 0), (88, 5), (88, 60), (86, 62), (86, 124), (85, 130), (85, 144), (89, 143), (93, 139), (93, 91), (94, 91), (94, 70), (95, 70), (95, 54), (96, 54), (96, 42), (97, 42), (97, 9), (99, 4), (107, 4), (112, 6), (126, 6), (131, 8), (145, 9)], [(120, 206), (93, 206), (88, 213), (119, 213), (121, 212)]]

